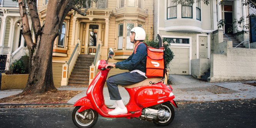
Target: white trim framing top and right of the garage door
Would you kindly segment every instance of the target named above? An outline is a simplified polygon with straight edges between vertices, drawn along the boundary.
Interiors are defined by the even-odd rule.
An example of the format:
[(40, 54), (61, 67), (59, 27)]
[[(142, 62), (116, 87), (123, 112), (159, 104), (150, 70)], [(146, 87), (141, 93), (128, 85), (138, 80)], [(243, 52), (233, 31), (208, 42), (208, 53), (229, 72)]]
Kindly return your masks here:
[(189, 44), (182, 44), (182, 43), (171, 43), (170, 48), (189, 48), (190, 49), (190, 56), (189, 56), (189, 71), (190, 71), (190, 75), (191, 75), (191, 58), (192, 58), (192, 37), (185, 37), (185, 36), (168, 36), (168, 35), (162, 35), (162, 37), (166, 37), (166, 38), (187, 38), (190, 39), (190, 43)]

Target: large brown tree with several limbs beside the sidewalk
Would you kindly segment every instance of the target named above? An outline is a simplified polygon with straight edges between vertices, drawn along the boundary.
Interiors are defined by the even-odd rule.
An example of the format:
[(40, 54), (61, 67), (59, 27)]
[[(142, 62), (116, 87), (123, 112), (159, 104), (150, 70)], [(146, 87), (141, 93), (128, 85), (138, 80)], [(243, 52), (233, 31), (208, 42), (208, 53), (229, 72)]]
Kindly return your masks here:
[[(37, 0), (13, 1), (17, 1), (19, 5), (23, 25), (22, 35), (27, 43), (30, 56), (28, 82), (21, 94), (39, 95), (46, 91), (56, 91), (53, 84), (52, 52), (53, 42), (58, 36), (59, 28), (69, 11), (73, 9), (78, 14), (86, 16), (91, 1), (96, 2), (97, 0), (49, 0), (46, 21), (43, 26), (40, 25), (38, 17)], [(35, 33), (35, 43), (32, 40), (28, 23), (26, 3)], [(83, 6), (86, 8), (82, 12), (80, 9)]]

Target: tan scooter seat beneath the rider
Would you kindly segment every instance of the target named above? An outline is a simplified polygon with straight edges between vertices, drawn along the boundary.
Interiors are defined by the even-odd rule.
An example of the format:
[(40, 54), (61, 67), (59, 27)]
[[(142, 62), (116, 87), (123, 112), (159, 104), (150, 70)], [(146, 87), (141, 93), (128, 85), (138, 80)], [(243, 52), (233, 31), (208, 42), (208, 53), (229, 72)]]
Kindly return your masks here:
[(143, 80), (140, 83), (135, 83), (133, 85), (127, 85), (127, 86), (123, 86), (123, 87), (125, 87), (125, 88), (135, 88), (135, 87), (139, 87), (139, 86), (152, 85), (153, 83), (156, 83), (156, 82), (158, 82), (162, 79), (163, 79), (162, 77), (147, 78), (146, 80)]

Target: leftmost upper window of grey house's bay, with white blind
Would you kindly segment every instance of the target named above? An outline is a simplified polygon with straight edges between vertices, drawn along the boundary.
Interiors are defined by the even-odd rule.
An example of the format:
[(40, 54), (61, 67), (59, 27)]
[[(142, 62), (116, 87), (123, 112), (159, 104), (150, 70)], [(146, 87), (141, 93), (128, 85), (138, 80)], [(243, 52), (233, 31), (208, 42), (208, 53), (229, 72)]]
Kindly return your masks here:
[(177, 18), (177, 3), (167, 0), (167, 19)]

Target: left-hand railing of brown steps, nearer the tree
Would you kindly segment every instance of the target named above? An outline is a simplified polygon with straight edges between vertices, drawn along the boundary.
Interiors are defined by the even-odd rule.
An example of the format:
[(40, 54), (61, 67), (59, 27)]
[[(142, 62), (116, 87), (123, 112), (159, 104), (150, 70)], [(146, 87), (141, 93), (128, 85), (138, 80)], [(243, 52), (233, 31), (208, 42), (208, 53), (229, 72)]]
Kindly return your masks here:
[(80, 54), (80, 43), (81, 41), (78, 39), (76, 40), (76, 46), (73, 50), (73, 53), (71, 54), (68, 62), (65, 62), (64, 65), (62, 65), (62, 82), (61, 86), (68, 85), (68, 78), (71, 75), (71, 72), (75, 66), (76, 60), (78, 58), (78, 55)]

